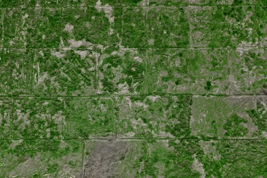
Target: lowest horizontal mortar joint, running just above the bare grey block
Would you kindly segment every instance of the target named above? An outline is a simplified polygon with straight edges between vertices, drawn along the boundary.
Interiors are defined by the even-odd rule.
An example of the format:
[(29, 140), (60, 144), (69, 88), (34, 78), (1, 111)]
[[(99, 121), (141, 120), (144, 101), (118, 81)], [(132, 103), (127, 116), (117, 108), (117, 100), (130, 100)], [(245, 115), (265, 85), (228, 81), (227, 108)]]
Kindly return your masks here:
[(218, 141), (224, 141), (224, 140), (263, 140), (267, 141), (266, 138), (117, 138), (117, 139), (98, 139), (98, 138), (53, 138), (53, 139), (41, 139), (41, 138), (5, 138), (5, 139), (0, 139), (0, 141), (12, 141), (12, 140), (36, 140), (36, 141), (53, 141), (53, 140), (77, 140), (77, 141), (120, 141), (120, 140), (203, 140), (203, 141), (208, 141), (208, 140), (218, 140)]

